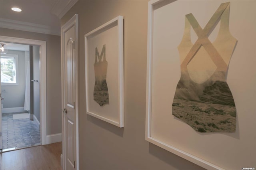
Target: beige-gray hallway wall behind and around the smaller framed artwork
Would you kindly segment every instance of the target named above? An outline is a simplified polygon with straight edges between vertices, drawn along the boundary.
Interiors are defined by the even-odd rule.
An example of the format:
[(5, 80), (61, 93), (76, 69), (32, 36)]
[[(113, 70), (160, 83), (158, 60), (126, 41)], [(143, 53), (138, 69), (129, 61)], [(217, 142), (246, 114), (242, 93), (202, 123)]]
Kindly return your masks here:
[[(79, 162), (81, 170), (203, 169), (145, 140), (148, 1), (78, 1), (62, 18), (79, 18)], [(124, 121), (118, 128), (86, 115), (84, 35), (124, 16)]]

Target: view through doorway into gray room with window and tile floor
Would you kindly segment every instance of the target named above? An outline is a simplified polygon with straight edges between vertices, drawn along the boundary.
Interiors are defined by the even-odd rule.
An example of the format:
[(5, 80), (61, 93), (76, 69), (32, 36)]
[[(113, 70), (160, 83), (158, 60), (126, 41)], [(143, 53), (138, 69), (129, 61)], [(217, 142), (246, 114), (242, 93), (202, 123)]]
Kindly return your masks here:
[(0, 43), (5, 48), (0, 54), (0, 147), (5, 152), (40, 145), (40, 47)]

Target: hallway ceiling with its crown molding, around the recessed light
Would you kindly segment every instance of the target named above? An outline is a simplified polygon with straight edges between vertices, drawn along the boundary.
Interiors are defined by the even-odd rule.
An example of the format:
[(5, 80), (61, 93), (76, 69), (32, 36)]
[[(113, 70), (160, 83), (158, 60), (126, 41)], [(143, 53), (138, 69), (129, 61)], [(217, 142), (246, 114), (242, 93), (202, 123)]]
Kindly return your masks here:
[[(77, 0), (0, 0), (0, 27), (60, 35), (60, 18)], [(22, 12), (14, 12), (19, 7)], [(34, 31), (31, 27), (35, 27)], [(19, 29), (20, 28), (20, 29)], [(44, 32), (48, 30), (48, 32)]]

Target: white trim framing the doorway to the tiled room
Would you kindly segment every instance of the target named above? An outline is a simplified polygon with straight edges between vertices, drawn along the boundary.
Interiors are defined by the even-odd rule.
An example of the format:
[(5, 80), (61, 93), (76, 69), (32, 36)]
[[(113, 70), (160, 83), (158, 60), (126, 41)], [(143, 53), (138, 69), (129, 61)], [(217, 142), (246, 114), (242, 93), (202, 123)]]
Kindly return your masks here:
[[(36, 66), (36, 68), (39, 68), (39, 73), (38, 73), (39, 77), (37, 79), (31, 79), (32, 80), (31, 82), (33, 84), (38, 83), (37, 85), (38, 85), (38, 89), (39, 89), (38, 91), (39, 91), (39, 95), (40, 95), (38, 103), (40, 103), (40, 104), (38, 104), (38, 106), (36, 106), (36, 107), (39, 108), (39, 114), (38, 114), (39, 116), (36, 117), (35, 114), (32, 113), (32, 111), (34, 112), (34, 109), (32, 110), (30, 108), (30, 113), (32, 113), (32, 114), (30, 114), (29, 120), (34, 119), (35, 117), (37, 120), (39, 118), (39, 120), (38, 120), (38, 122), (40, 122), (39, 131), (41, 133), (37, 137), (38, 138), (40, 137), (42, 145), (46, 144), (46, 42), (40, 41), (40, 40), (30, 40), (30, 39), (14, 38), (14, 37), (7, 37), (7, 36), (0, 36), (0, 41), (4, 42), (4, 43), (19, 43), (19, 44), (23, 44), (23, 45), (30, 45), (30, 48), (32, 48), (32, 46), (35, 46), (38, 48), (37, 51), (39, 51), (39, 62), (38, 62), (39, 64)], [(34, 49), (34, 50), (36, 51), (36, 49)], [(32, 51), (32, 50), (30, 50), (30, 51)], [(34, 87), (34, 85), (32, 85), (32, 86)], [(3, 97), (3, 95), (2, 95), (2, 97)], [(35, 99), (33, 99), (33, 100), (35, 100)], [(1, 106), (1, 104), (2, 103), (0, 101), (0, 106)], [(2, 109), (0, 109), (0, 115), (2, 115), (1, 111), (2, 111)], [(26, 114), (26, 111), (24, 114)], [(12, 115), (12, 119), (13, 119), (13, 115)], [(2, 120), (0, 120), (0, 121), (2, 121)], [(0, 146), (1, 147), (3, 145), (2, 130), (3, 130), (3, 128), (1, 125), (0, 126)], [(36, 135), (36, 134), (34, 134), (34, 135)], [(34, 141), (36, 141), (36, 140), (34, 140)]]

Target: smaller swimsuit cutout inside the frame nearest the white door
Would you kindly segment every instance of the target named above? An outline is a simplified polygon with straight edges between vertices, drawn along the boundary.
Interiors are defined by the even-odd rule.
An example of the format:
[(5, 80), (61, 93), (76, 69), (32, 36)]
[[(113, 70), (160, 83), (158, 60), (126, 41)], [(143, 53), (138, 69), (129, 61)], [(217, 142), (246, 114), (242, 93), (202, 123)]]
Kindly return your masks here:
[[(103, 59), (102, 59), (103, 57)], [(106, 45), (102, 47), (101, 54), (99, 55), (98, 48), (95, 48), (95, 62), (94, 62), (94, 74), (95, 84), (93, 97), (100, 106), (109, 103), (108, 99), (108, 85), (106, 81), (108, 69), (108, 61), (106, 60)]]

